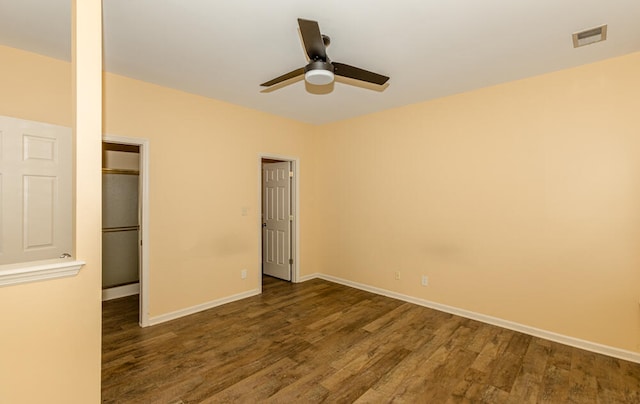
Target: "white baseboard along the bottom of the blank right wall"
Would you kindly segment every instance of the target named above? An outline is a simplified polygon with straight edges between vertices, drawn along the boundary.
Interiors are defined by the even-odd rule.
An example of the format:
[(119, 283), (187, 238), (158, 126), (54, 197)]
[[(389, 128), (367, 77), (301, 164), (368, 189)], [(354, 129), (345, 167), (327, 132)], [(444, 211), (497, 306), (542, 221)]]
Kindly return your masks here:
[(630, 362), (640, 363), (640, 353), (638, 352), (627, 351), (624, 349), (615, 348), (608, 345), (602, 345), (595, 342), (570, 337), (567, 335), (557, 334), (551, 331), (541, 330), (539, 328), (530, 327), (528, 325), (515, 323), (512, 321), (504, 320), (497, 317), (487, 316), (485, 314), (476, 313), (476, 312), (464, 310), (464, 309), (459, 309), (452, 306), (447, 306), (445, 304), (440, 304), (440, 303), (432, 302), (429, 300), (404, 295), (402, 293), (392, 292), (390, 290), (381, 289), (374, 286), (369, 286), (362, 283), (349, 281), (349, 280), (338, 278), (331, 275), (313, 274), (313, 275), (307, 275), (304, 277), (305, 280), (310, 280), (314, 278), (319, 278), (329, 282), (339, 283), (341, 285), (350, 286), (352, 288), (375, 293), (377, 295), (387, 296), (393, 299), (398, 299), (408, 303), (417, 304), (419, 306), (428, 307), (430, 309), (454, 314), (456, 316), (465, 317), (471, 320), (480, 321), (482, 323), (496, 325), (498, 327), (506, 328), (513, 331), (518, 331), (523, 334), (528, 334), (534, 337), (558, 342), (560, 344), (569, 345), (579, 349), (584, 349), (586, 351), (595, 352), (598, 354), (607, 355), (614, 358), (627, 360)]

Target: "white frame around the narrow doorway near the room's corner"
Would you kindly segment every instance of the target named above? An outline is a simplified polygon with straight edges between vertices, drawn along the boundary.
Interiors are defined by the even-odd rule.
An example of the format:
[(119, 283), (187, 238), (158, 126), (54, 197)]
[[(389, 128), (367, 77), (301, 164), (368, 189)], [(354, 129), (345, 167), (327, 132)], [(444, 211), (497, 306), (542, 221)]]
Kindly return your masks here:
[(257, 228), (260, 232), (258, 237), (260, 262), (258, 263), (258, 279), (260, 280), (260, 293), (262, 293), (262, 159), (288, 161), (291, 163), (293, 171), (293, 181), (291, 182), (291, 208), (293, 210), (293, 226), (291, 234), (291, 251), (293, 252), (293, 266), (291, 267), (291, 282), (298, 283), (300, 279), (300, 159), (293, 156), (285, 156), (273, 153), (258, 154), (258, 206), (260, 214), (257, 215)]

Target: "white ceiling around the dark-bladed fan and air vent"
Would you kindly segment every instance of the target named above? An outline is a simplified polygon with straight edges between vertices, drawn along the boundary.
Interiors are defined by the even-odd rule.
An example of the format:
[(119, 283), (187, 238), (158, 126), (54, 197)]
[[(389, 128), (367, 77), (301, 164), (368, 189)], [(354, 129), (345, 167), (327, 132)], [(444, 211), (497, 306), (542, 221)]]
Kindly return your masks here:
[[(109, 72), (322, 124), (640, 51), (638, 0), (104, 0)], [(306, 64), (297, 18), (331, 37), (332, 60), (390, 76), (260, 83)], [(608, 24), (605, 42), (571, 34)], [(70, 59), (70, 0), (0, 0), (0, 44)], [(640, 73), (639, 73), (640, 74)], [(312, 90), (312, 89), (311, 89)]]

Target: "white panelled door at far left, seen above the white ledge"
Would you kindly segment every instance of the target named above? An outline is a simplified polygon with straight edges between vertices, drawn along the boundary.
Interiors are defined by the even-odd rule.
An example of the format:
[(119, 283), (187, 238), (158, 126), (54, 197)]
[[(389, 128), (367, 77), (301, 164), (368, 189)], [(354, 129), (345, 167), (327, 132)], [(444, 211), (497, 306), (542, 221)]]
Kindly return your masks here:
[(0, 116), (0, 264), (71, 253), (71, 128)]

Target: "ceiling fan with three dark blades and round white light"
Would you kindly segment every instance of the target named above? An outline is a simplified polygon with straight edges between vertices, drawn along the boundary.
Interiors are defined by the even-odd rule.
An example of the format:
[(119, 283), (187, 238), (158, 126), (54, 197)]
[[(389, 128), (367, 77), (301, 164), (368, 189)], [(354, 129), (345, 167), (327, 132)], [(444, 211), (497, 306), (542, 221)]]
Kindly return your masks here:
[(309, 64), (289, 73), (276, 77), (260, 84), (263, 87), (271, 87), (285, 80), (304, 75), (304, 79), (314, 85), (330, 84), (334, 76), (342, 76), (350, 79), (383, 85), (389, 77), (373, 73), (359, 67), (349, 66), (344, 63), (332, 62), (327, 56), (327, 47), (331, 40), (320, 33), (320, 27), (316, 21), (298, 18), (298, 26), (302, 34), (302, 42), (309, 57)]

